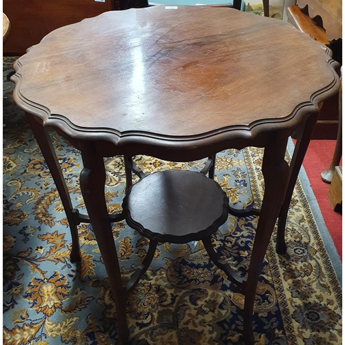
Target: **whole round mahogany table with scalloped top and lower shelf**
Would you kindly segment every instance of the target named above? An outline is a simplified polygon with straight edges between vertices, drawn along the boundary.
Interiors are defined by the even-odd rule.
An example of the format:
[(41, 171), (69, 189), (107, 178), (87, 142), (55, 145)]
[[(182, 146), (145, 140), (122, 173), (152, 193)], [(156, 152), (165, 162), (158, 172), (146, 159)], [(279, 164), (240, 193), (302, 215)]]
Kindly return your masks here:
[[(326, 46), (289, 23), (207, 6), (105, 12), (51, 32), (14, 63), (14, 101), (26, 111), (55, 179), (71, 228), (72, 260), (80, 259), (77, 225), (90, 221), (95, 231), (117, 307), (120, 344), (129, 339), (126, 297), (144, 268), (132, 280), (134, 285), (124, 286), (110, 222), (126, 217), (130, 226), (141, 227), (143, 235), (153, 241), (157, 235), (158, 240), (194, 238), (188, 237), (189, 230), (157, 233), (135, 218), (141, 209), (134, 206), (135, 188), (144, 205), (148, 195), (144, 190), (155, 188), (156, 193), (177, 194), (181, 200), (176, 189), (180, 186), (184, 192), (184, 184), (177, 183), (175, 173), (166, 173), (165, 177), (154, 174), (150, 180), (144, 177), (130, 187), (130, 157), (192, 161), (213, 157), (227, 148), (264, 148), (262, 207), (235, 212), (259, 215), (246, 279), (217, 260), (210, 244), (216, 223), (224, 222), (221, 209), (227, 202), (217, 192), (216, 182), (197, 175), (187, 177), (186, 172), (181, 176), (190, 183), (195, 181), (195, 187), (188, 190), (195, 203), (200, 204), (198, 190), (204, 190), (203, 181), (208, 181), (217, 197), (217, 219), (208, 215), (215, 224), (196, 233), (205, 240), (215, 264), (241, 288), (244, 339), (253, 343), (253, 304), (266, 248), (278, 218), (277, 251), (286, 250), (284, 229), (290, 198), (319, 107), (339, 88), (336, 66)], [(54, 128), (81, 151), (80, 185), (88, 215), (79, 215), (72, 208), (47, 128)], [(297, 128), (302, 130), (288, 166), (286, 143)], [(108, 215), (103, 157), (114, 155), (126, 157), (131, 191), (126, 194), (124, 212)], [(148, 200), (155, 198), (149, 195)], [(207, 198), (205, 202), (212, 204)], [(192, 206), (190, 218), (201, 217)], [(175, 204), (171, 209), (177, 213), (178, 208)], [(164, 222), (163, 216), (149, 209), (147, 218)], [(234, 212), (230, 207), (228, 211)]]

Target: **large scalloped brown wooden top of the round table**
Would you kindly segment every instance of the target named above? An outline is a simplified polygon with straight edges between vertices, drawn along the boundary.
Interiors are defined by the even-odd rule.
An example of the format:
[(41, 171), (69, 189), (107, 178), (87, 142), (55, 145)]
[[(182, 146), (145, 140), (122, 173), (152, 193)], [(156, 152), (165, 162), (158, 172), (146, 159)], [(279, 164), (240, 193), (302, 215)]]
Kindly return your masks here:
[(59, 28), (19, 58), (14, 100), (74, 137), (269, 128), (339, 88), (328, 48), (232, 8), (154, 6)]

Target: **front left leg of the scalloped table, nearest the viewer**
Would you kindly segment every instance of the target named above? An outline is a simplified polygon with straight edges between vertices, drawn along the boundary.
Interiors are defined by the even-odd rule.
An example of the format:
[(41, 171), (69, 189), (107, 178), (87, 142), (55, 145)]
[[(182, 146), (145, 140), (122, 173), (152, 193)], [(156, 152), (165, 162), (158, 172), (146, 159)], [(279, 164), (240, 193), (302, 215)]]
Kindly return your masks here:
[(97, 155), (95, 144), (90, 141), (80, 141), (80, 150), (83, 159), (83, 170), (81, 170), (80, 175), (81, 193), (110, 280), (119, 326), (118, 344), (128, 344), (129, 331), (126, 315), (128, 294), (121, 278), (117, 250), (104, 195), (106, 182), (104, 161), (103, 157)]

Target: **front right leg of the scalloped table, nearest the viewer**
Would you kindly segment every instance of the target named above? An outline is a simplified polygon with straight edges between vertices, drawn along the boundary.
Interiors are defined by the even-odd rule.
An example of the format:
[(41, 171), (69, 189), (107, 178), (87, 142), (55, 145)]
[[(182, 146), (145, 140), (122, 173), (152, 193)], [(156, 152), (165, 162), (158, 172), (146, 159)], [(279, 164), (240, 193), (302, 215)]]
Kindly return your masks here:
[(262, 273), (266, 250), (288, 186), (288, 164), (284, 159), (287, 139), (288, 133), (275, 139), (275, 142), (264, 150), (262, 173), (265, 181), (265, 193), (250, 257), (248, 277), (243, 288), (244, 340), (246, 344), (254, 344), (253, 309), (257, 282)]

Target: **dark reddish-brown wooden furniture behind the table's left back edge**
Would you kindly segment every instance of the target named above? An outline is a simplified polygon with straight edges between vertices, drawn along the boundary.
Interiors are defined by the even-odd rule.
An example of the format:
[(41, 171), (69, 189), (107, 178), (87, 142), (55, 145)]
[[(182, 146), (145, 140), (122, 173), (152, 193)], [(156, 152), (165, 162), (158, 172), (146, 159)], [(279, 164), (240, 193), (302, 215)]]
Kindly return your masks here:
[(119, 9), (118, 0), (3, 0), (3, 12), (12, 24), (3, 55), (23, 55), (52, 30)]

